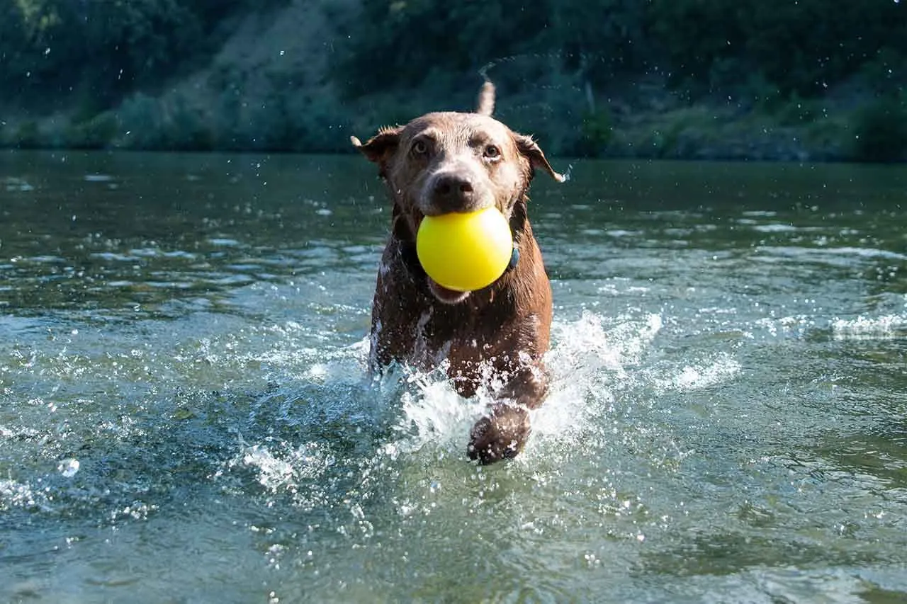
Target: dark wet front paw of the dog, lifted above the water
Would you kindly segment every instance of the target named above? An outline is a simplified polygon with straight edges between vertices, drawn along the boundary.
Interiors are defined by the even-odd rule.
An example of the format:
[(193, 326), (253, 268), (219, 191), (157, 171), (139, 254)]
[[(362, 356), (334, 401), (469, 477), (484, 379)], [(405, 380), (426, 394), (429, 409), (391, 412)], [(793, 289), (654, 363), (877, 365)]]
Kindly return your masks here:
[(522, 451), (530, 432), (526, 409), (501, 404), (473, 425), (466, 453), (483, 464), (512, 459)]

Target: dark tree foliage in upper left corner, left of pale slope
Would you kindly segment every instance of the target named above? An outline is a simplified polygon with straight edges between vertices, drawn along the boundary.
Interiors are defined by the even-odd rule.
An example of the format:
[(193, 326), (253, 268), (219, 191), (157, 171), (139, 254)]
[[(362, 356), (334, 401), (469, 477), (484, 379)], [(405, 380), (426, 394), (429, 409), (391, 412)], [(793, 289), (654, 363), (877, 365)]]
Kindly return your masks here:
[(210, 50), (203, 32), (224, 16), (210, 0), (0, 0), (5, 101), (40, 109), (75, 95), (106, 108)]

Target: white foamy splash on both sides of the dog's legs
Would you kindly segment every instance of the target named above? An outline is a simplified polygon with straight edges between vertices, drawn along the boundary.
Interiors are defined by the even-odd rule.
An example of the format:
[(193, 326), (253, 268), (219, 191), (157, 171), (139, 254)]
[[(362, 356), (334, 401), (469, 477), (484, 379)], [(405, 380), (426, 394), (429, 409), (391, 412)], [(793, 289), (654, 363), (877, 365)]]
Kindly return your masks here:
[[(584, 312), (574, 321), (556, 321), (553, 346), (546, 357), (551, 389), (545, 404), (532, 412), (533, 435), (516, 467), (528, 468), (551, 456), (565, 461), (578, 447), (600, 446), (602, 438), (607, 438), (602, 434), (612, 429), (604, 418), (613, 410), (619, 393), (630, 388), (649, 389), (653, 395), (703, 388), (739, 371), (739, 364), (727, 354), (669, 370), (645, 368), (642, 365), (661, 328), (662, 318), (646, 313), (601, 317)], [(352, 464), (357, 468), (354, 473), (366, 475), (386, 463), (450, 460), (465, 464), (470, 428), (493, 404), (491, 396), (480, 393), (464, 399), (454, 391), (443, 369), (430, 373), (397, 370), (370, 382), (364, 368), (366, 354), (364, 339), (322, 351), (320, 360), (307, 364), (304, 372), (298, 366), (288, 367), (305, 385), (297, 382), (278, 389), (283, 409), (278, 423), (302, 424), (310, 440), (292, 441), (298, 439), (298, 433), (286, 440), (268, 436), (267, 442), (246, 442), (243, 439), (248, 437), (241, 436), (239, 453), (229, 469), (252, 469), (268, 492), (289, 494), (311, 509), (314, 500), (299, 493), (317, 489), (315, 482), (336, 472), (332, 466)], [(257, 404), (256, 424), (275, 424), (271, 414), (277, 401), (266, 399), (268, 396)], [(304, 400), (308, 402), (303, 404)], [(327, 433), (315, 430), (312, 434), (310, 428), (326, 419), (338, 422), (333, 429), (355, 441), (360, 457), (343, 459)]]

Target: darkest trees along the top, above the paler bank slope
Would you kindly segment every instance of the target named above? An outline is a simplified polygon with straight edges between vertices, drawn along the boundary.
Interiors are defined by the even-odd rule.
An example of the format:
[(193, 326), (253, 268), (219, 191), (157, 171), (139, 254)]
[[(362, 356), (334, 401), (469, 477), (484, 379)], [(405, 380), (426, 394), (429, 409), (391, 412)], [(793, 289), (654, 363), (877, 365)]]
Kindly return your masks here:
[[(859, 119), (882, 131), (881, 143), (866, 150), (881, 148), (882, 157), (867, 159), (907, 152), (907, 2), (900, 0), (344, 5), (354, 10), (330, 0), (0, 0), (0, 109), (51, 112), (63, 103), (91, 118), (204, 65), (243, 15), (303, 5), (330, 17), (324, 79), (350, 106), (400, 89), (445, 98), (483, 67), (511, 91), (551, 73), (588, 91), (657, 74), (687, 102), (733, 99), (742, 111), (799, 106), (851, 86)], [(611, 129), (599, 113), (579, 126), (593, 147)]]

